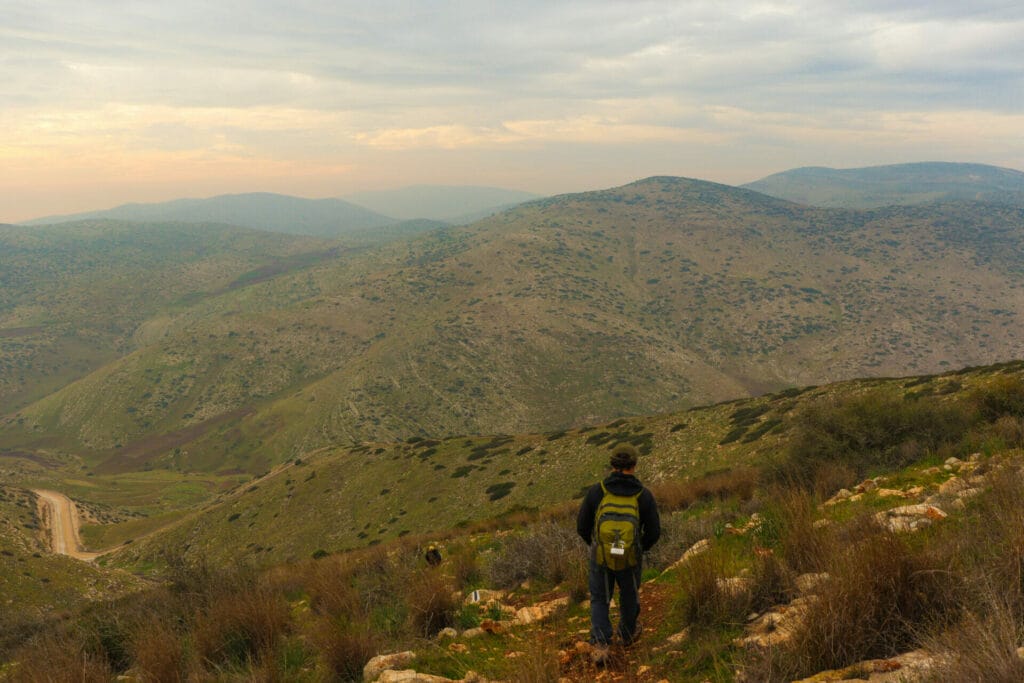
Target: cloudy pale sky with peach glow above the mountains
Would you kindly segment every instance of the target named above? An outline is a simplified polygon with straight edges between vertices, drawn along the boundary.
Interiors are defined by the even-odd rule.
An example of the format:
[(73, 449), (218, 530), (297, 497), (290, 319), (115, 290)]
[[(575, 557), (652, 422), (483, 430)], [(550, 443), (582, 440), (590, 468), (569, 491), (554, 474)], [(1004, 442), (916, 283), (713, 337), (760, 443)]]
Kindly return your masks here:
[(0, 0), (0, 222), (226, 193), (1024, 170), (1019, 0)]

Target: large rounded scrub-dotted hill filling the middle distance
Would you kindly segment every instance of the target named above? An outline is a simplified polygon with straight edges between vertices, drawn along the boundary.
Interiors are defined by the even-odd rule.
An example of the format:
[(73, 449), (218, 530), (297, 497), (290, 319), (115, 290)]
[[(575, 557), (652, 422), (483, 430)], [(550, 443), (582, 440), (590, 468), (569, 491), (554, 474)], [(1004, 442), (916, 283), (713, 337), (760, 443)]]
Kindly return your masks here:
[(541, 200), (163, 310), (0, 446), (256, 473), (1020, 357), (1022, 226), (1004, 205), (828, 210), (670, 177)]

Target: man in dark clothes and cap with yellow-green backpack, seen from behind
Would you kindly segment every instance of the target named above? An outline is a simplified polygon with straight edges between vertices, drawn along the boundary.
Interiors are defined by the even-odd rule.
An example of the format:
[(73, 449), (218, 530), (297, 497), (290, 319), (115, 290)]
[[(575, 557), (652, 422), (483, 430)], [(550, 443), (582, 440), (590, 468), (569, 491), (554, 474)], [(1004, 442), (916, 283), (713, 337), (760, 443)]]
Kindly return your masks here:
[[(642, 554), (662, 536), (662, 521), (654, 497), (635, 475), (638, 457), (637, 450), (631, 444), (616, 445), (611, 452), (611, 473), (603, 482), (591, 486), (577, 517), (577, 531), (590, 546), (591, 643), (594, 645), (594, 663), (598, 665), (603, 665), (608, 657), (612, 636), (608, 605), (615, 586), (618, 586), (618, 637), (623, 644), (629, 646), (640, 636), (637, 617), (640, 615)], [(605, 511), (609, 507), (618, 508), (622, 514), (608, 515)], [(601, 529), (607, 528), (604, 520), (609, 516), (632, 520), (637, 527), (636, 533), (626, 531), (620, 535), (616, 530), (612, 541), (602, 541), (600, 537), (607, 537), (607, 531)], [(620, 536), (627, 541), (620, 542)]]

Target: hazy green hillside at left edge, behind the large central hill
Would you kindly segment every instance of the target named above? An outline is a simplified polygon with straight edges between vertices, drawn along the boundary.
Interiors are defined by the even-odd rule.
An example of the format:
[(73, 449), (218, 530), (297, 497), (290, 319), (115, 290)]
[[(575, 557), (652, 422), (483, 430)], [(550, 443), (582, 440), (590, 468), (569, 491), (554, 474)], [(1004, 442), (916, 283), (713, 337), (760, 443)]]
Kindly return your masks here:
[(0, 413), (130, 354), (176, 310), (339, 249), (217, 224), (2, 225)]

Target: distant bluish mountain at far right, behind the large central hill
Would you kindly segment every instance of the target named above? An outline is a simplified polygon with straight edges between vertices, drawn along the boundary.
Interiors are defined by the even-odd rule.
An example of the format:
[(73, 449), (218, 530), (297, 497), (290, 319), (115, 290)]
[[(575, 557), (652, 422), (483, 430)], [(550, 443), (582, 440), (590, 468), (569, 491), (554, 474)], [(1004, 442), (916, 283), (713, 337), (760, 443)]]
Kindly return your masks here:
[(798, 168), (743, 185), (811, 206), (869, 209), (947, 200), (1024, 206), (1024, 173), (982, 164), (921, 163)]

